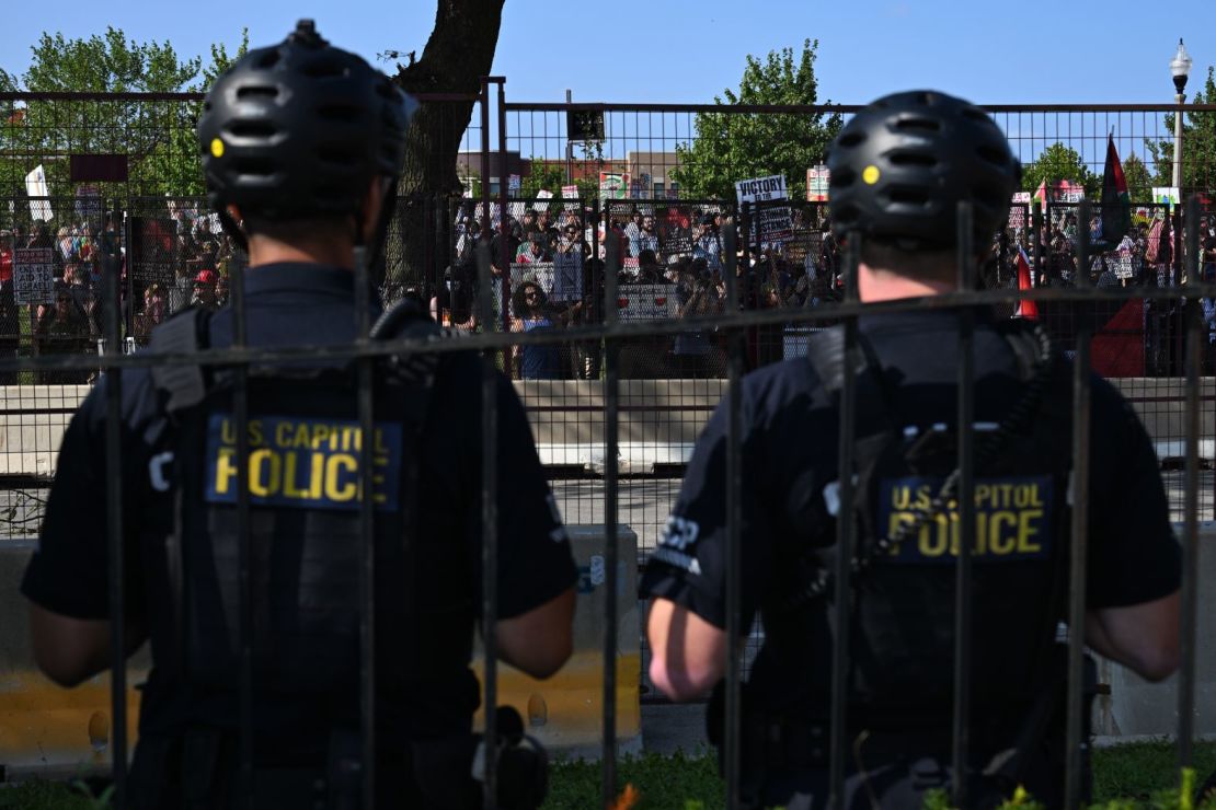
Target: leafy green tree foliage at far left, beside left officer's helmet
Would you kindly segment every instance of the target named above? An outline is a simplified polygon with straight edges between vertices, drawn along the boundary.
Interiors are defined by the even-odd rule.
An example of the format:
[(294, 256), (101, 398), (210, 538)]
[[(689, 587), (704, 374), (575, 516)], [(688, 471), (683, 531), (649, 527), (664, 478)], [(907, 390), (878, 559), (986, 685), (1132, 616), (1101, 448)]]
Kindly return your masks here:
[[(0, 89), (27, 92), (198, 92), (248, 49), (242, 34), (236, 55), (213, 45), (210, 61), (182, 60), (173, 45), (136, 43), (122, 29), (67, 39), (46, 34), (32, 46), (29, 69), (17, 78), (0, 72)], [(195, 124), (201, 103), (135, 101), (30, 101), (15, 120), (0, 123), (0, 194), (19, 192), (39, 163), (54, 196), (74, 196), (64, 154), (125, 153), (130, 188), (137, 194), (202, 193)], [(103, 196), (125, 189), (102, 188)]]

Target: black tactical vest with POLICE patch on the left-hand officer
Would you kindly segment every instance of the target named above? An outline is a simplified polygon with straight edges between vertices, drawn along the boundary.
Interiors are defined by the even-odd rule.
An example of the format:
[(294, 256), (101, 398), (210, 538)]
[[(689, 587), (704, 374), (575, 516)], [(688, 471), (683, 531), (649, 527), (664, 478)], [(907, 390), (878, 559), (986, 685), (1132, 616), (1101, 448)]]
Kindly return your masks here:
[[(188, 325), (181, 325), (187, 323)], [(208, 319), (187, 313), (153, 351), (206, 347)], [(171, 333), (170, 333), (171, 334)], [(462, 542), (417, 531), (418, 435), (430, 374), (378, 367), (375, 391), (376, 638), (379, 689), (458, 678), (471, 657), (472, 570)], [(232, 376), (170, 369), (159, 442), (174, 453), (164, 549), (170, 621), (153, 622), (153, 657), (175, 680), (240, 689), (240, 526)], [(184, 379), (195, 383), (184, 383)], [(198, 385), (198, 381), (202, 384)], [(249, 549), (255, 692), (358, 702), (360, 539), (356, 386), (351, 369), (253, 369), (248, 376)], [(153, 521), (154, 525), (154, 521)]]

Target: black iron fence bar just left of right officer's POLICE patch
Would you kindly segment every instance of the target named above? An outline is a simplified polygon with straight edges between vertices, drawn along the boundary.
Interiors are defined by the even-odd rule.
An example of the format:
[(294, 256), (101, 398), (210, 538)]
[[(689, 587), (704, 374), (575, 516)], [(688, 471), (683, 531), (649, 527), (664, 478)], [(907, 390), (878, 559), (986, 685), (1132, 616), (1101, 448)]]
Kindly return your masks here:
[[(857, 272), (861, 262), (861, 234), (849, 233), (845, 242), (845, 300), (858, 301)], [(849, 757), (849, 636), (850, 601), (852, 597), (852, 557), (856, 540), (854, 515), (854, 451), (857, 427), (857, 369), (854, 357), (857, 351), (857, 316), (844, 322), (844, 358), (840, 364), (840, 436), (838, 437), (838, 483), (840, 504), (837, 511), (835, 593), (832, 617), (835, 636), (832, 645), (832, 754), (828, 786), (828, 805), (844, 806), (844, 772)]]

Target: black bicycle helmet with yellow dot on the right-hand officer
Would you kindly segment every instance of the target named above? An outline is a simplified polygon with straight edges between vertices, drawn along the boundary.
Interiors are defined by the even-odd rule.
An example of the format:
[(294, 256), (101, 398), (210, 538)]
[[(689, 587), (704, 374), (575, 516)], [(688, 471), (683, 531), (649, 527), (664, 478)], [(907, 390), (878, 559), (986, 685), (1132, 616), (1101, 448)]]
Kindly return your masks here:
[(858, 112), (832, 143), (828, 168), (835, 236), (857, 231), (907, 250), (953, 247), (961, 200), (974, 206), (976, 249), (986, 247), (1021, 179), (987, 113), (925, 90), (884, 96)]

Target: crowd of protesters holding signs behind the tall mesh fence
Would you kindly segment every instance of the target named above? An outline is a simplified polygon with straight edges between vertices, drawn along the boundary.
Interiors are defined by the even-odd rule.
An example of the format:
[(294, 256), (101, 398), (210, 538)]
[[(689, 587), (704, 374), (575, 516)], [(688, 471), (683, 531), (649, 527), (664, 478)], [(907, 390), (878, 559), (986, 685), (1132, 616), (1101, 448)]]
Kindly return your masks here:
[[(508, 204), (505, 216), (492, 208), (486, 217), (475, 204), (462, 206), (454, 222), (452, 259), (443, 278), (429, 287), (405, 290), (422, 300), (429, 298), (435, 318), (455, 330), (478, 327), (474, 248), (486, 223), (494, 232), (491, 272), (499, 285), (495, 319), (514, 332), (556, 330), (602, 321), (606, 245), (613, 239), (624, 265), (618, 277), (621, 300), (630, 300), (630, 289), (652, 290), (658, 285), (664, 289), (655, 288), (654, 300), (670, 302), (635, 318), (698, 318), (732, 308), (817, 307), (838, 301), (843, 294), (841, 251), (831, 234), (827, 209), (818, 204), (789, 205), (789, 228), (778, 239), (759, 239), (756, 234), (745, 239), (736, 231), (738, 299), (733, 305), (727, 300), (724, 277), (724, 231), (737, 226), (717, 204), (609, 202), (599, 209), (582, 202), (551, 200), (535, 208)], [(1098, 222), (1094, 216), (1087, 226), (1091, 243), (1098, 243)], [(1206, 217), (1200, 222), (1204, 259), (1195, 271), (1216, 278), (1216, 216), (1211, 225)], [(1063, 206), (1049, 211), (1037, 233), (1010, 221), (1010, 227), (993, 239), (984, 283), (1017, 287), (1021, 254), (1034, 285), (1075, 284), (1079, 227), (1076, 209)], [(1097, 244), (1093, 249), (1091, 282), (1098, 287), (1181, 283), (1184, 274), (1176, 271), (1175, 237), (1169, 216), (1137, 217), (1118, 245)], [(54, 294), (39, 304), (16, 302), (15, 248), (51, 249)], [(142, 345), (158, 323), (187, 306), (223, 306), (232, 265), (243, 260), (213, 216), (171, 203), (162, 211), (129, 216), (122, 222), (88, 217), (77, 225), (34, 222), (0, 230), (0, 355), (97, 351), (103, 336), (102, 268), (107, 256), (116, 257), (113, 264), (122, 274), (122, 332), (124, 342), (133, 345)], [(1150, 302), (1145, 308), (1148, 333), (1152, 318), (1167, 319), (1178, 307)], [(1013, 310), (1010, 304), (1002, 312), (1012, 315)], [(1206, 363), (1212, 368), (1216, 300), (1204, 300), (1204, 313), (1210, 329)], [(621, 317), (627, 319), (629, 312), (621, 310)], [(798, 332), (805, 335), (807, 324), (776, 323), (750, 329), (748, 364), (787, 356), (790, 334)], [(674, 336), (626, 340), (620, 357), (626, 376), (716, 376), (725, 373), (725, 339), (711, 329), (689, 328)], [(554, 342), (518, 349), (506, 362), (520, 379), (597, 379), (602, 352), (587, 344)], [(35, 376), (43, 383), (84, 383), (95, 374), (55, 369)], [(0, 384), (17, 380), (16, 373), (0, 374)]]

